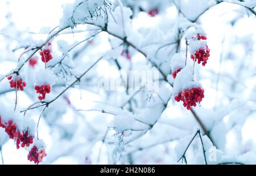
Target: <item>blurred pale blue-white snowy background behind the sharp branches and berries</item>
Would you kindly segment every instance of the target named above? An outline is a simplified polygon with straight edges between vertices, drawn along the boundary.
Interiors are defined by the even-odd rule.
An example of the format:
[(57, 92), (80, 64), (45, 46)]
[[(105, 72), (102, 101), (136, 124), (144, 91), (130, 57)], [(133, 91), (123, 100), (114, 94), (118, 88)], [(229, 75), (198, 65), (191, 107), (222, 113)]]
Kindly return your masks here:
[[(74, 6), (68, 4), (74, 2), (0, 1), (0, 78), (16, 68), (24, 48), (46, 40), (52, 29), (63, 24), (60, 20), (63, 9), (72, 9)], [(117, 9), (120, 3), (114, 1), (112, 10)], [(109, 56), (98, 62), (80, 83), (71, 87), (44, 111), (39, 136), (47, 145), (48, 156), (43, 164), (181, 164), (177, 160), (197, 128), (201, 127), (195, 115), (184, 108), (182, 103), (168, 98), (172, 92), (168, 83), (159, 83), (159, 97), (162, 97), (160, 99), (163, 102), (168, 102), (167, 107), (155, 110), (159, 98), (149, 100), (150, 92), (108, 91), (97, 87), (97, 81), (100, 78), (117, 79), (127, 70), (154, 69), (147, 61), (152, 59), (164, 70), (172, 84), (174, 80), (168, 74), (171, 74), (170, 60), (176, 52), (176, 45), (167, 45), (157, 55), (152, 53), (177, 37), (177, 27), (179, 23), (186, 23), (185, 19), (203, 28), (210, 48), (207, 65), (196, 65), (197, 80), (205, 90), (205, 97), (201, 106), (194, 108), (214, 141), (212, 144), (207, 135), (203, 137), (207, 158), (212, 153), (210, 149), (214, 149), (213, 154), (216, 154), (214, 160), (208, 158), (208, 163), (256, 164), (256, 16), (253, 9), (256, 2), (130, 0), (122, 3), (133, 11), (130, 19), (131, 11), (123, 9), (127, 17), (123, 19), (131, 20), (130, 26), (125, 27), (129, 35), (127, 40), (140, 46), (147, 53), (147, 58), (132, 47), (129, 47), (131, 58), (122, 56), (127, 46), (107, 32), (101, 32), (69, 53), (64, 60), (67, 68), (53, 69), (57, 81), (52, 86), (51, 94), (47, 94), (47, 100), (56, 97), (63, 87), (72, 83), (74, 74), (79, 76), (100, 56)], [(155, 16), (151, 15), (154, 12), (152, 10), (157, 11)], [(117, 9), (112, 14), (117, 19), (121, 18), (119, 11)], [(113, 18), (112, 15), (109, 18)], [(110, 28), (112, 23), (109, 24)], [(112, 28), (118, 32), (122, 25)], [(97, 29), (96, 26), (81, 24), (57, 35), (51, 41), (55, 61), (52, 60), (49, 65), (59, 61), (73, 45), (94, 35)], [(182, 38), (180, 52), (183, 55), (185, 47)], [(40, 57), (39, 53), (36, 55)], [(26, 60), (26, 57), (25, 54), (21, 59)], [(192, 63), (190, 57), (188, 62)], [(18, 91), (16, 113), (38, 101), (34, 77), (44, 77), (40, 72), (42, 68), (44, 64), (40, 58), (35, 68), (28, 64), (24, 66), (22, 73), (26, 75), (27, 87), (24, 91)], [(123, 110), (119, 110), (118, 107), (130, 97), (133, 99), (123, 106)], [(148, 102), (151, 104), (147, 105)], [(0, 109), (8, 114), (8, 111), (13, 111), (14, 104), (15, 91), (5, 78), (0, 82)], [(114, 115), (93, 111), (102, 109)], [(27, 111), (24, 118), (34, 119), (37, 123), (41, 111), (42, 107)], [(118, 116), (115, 116), (115, 112)], [(23, 118), (23, 113), (19, 114)], [(134, 116), (146, 120), (147, 124), (153, 124), (152, 128), (148, 128), (147, 124), (135, 124), (130, 128), (129, 125), (135, 123), (131, 120)], [(0, 148), (0, 164), (32, 164), (27, 160), (27, 150), (17, 150), (3, 128), (0, 128)], [(204, 164), (198, 137), (189, 148), (186, 158), (188, 164)]]

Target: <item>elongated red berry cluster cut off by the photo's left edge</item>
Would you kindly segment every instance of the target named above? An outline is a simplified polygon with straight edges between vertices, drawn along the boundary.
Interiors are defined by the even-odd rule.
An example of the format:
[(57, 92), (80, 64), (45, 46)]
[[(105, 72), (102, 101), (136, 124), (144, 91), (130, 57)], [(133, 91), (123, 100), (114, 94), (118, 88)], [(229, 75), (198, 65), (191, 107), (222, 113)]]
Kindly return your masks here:
[(30, 136), (28, 131), (18, 131), (17, 125), (13, 123), (13, 120), (9, 120), (8, 123), (2, 123), (0, 116), (0, 127), (5, 128), (5, 132), (9, 135), (9, 138), (15, 141), (17, 149), (19, 149), (20, 146), (22, 148), (25, 146), (28, 147), (33, 143), (34, 136)]

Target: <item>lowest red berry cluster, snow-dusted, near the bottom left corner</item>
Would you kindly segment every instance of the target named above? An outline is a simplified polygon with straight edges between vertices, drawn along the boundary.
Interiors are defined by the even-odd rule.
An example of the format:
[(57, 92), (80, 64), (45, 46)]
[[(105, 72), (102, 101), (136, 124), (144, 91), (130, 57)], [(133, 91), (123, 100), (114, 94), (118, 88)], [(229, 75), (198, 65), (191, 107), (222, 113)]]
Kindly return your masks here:
[(45, 149), (42, 148), (42, 149), (38, 150), (37, 146), (34, 145), (30, 149), (30, 152), (28, 152), (27, 159), (29, 161), (34, 161), (35, 164), (39, 164), (39, 162), (42, 162), (43, 158), (46, 156), (47, 156), (47, 154), (46, 154)]

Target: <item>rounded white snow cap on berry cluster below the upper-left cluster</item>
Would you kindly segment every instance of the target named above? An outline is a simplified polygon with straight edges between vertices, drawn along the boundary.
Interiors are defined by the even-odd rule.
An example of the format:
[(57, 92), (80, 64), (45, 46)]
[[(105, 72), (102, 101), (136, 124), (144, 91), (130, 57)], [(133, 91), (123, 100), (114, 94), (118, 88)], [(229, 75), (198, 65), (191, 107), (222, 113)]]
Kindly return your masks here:
[(35, 85), (42, 86), (42, 85), (54, 85), (56, 81), (56, 76), (50, 69), (40, 69), (35, 73)]

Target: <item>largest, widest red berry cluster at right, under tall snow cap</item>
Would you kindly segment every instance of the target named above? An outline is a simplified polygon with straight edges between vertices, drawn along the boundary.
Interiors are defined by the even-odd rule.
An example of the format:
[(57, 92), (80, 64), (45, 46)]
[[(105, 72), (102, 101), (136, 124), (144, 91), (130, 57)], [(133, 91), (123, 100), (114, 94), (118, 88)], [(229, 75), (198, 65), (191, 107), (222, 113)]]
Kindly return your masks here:
[(187, 107), (187, 110), (190, 110), (191, 106), (196, 107), (196, 103), (200, 103), (203, 98), (204, 90), (201, 87), (185, 89), (174, 97), (177, 102), (183, 101), (183, 106)]

